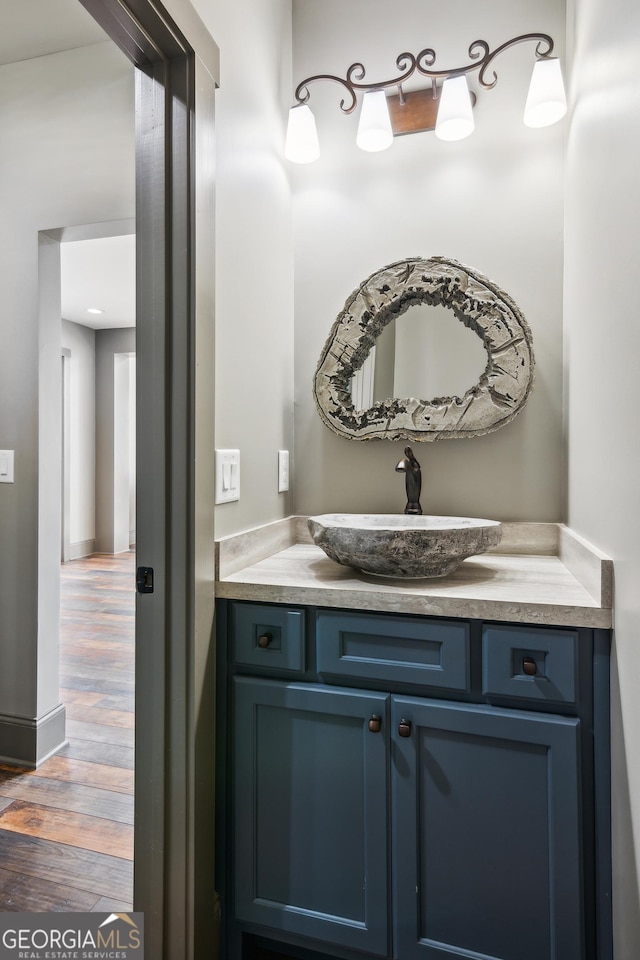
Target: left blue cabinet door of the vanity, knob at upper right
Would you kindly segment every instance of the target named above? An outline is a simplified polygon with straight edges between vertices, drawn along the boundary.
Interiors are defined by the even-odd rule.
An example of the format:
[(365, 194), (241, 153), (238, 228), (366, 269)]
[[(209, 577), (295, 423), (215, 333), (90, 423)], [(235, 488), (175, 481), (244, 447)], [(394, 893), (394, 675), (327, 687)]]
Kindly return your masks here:
[(388, 699), (236, 678), (236, 919), (387, 954)]

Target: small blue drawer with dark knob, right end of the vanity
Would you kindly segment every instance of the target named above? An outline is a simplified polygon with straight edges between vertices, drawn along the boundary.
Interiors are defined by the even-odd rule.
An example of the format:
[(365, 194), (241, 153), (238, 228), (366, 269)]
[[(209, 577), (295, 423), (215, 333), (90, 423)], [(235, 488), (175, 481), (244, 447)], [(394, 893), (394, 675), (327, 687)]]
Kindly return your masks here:
[(486, 626), (482, 692), (545, 703), (577, 699), (578, 634), (572, 630)]

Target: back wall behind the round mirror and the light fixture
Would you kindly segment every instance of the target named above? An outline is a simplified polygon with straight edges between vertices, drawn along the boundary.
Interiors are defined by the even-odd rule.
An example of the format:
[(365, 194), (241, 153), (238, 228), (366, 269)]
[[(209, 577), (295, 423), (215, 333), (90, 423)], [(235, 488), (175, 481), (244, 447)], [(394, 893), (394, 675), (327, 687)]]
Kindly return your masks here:
[[(425, 46), (436, 49), (443, 68), (467, 63), (468, 45), (479, 37), (497, 46), (547, 32), (564, 51), (565, 9), (557, 0), (451, 0), (437, 17), (423, 0), (406, 0), (397, 12), (387, 0), (294, 0), (293, 9), (294, 86), (314, 73), (344, 76), (354, 61), (372, 80), (386, 78), (399, 53)], [(403, 444), (335, 436), (316, 413), (312, 379), (332, 322), (363, 279), (403, 257), (442, 255), (477, 268), (518, 303), (533, 331), (537, 376), (526, 409), (504, 429), (416, 445), (423, 509), (561, 519), (563, 131), (521, 122), (533, 60), (527, 44), (495, 62), (498, 83), (478, 92), (468, 140), (442, 143), (422, 133), (378, 154), (355, 146), (357, 114), (340, 113), (343, 91), (311, 87), (322, 156), (292, 169), (297, 513), (404, 506), (393, 469)], [(470, 84), (478, 90), (473, 78)]]

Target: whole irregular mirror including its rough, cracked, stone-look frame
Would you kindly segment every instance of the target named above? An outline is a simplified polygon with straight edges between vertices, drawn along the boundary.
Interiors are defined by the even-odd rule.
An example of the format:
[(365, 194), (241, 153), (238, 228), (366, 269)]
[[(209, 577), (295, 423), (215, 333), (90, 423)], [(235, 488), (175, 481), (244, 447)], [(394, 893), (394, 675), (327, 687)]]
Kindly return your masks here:
[(531, 331), (508, 294), (455, 260), (416, 257), (347, 299), (313, 392), (350, 440), (474, 437), (513, 420), (533, 371)]

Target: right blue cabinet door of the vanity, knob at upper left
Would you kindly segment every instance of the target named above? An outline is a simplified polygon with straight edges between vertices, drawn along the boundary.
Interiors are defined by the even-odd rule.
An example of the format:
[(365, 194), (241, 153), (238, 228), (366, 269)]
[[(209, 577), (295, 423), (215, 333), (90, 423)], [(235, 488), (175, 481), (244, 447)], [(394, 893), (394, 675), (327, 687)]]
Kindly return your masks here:
[(393, 700), (396, 956), (581, 960), (579, 721)]

